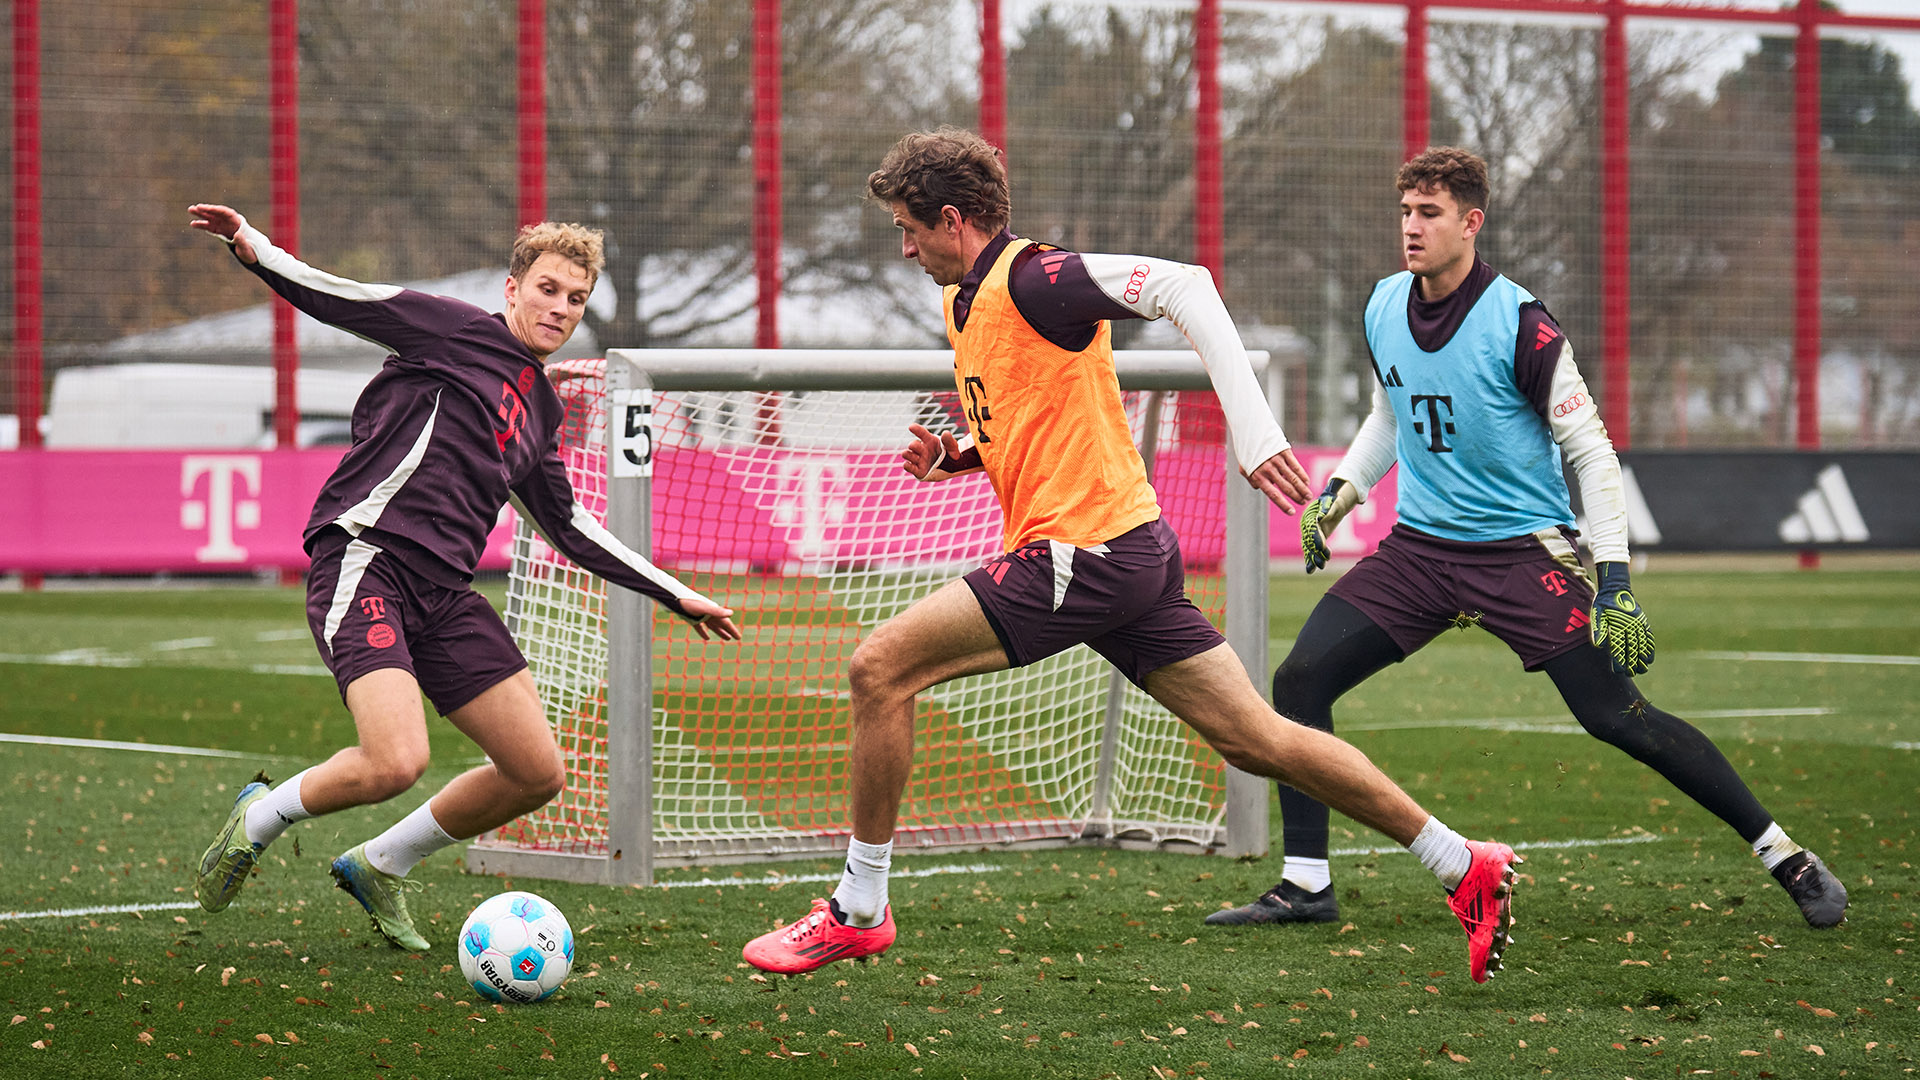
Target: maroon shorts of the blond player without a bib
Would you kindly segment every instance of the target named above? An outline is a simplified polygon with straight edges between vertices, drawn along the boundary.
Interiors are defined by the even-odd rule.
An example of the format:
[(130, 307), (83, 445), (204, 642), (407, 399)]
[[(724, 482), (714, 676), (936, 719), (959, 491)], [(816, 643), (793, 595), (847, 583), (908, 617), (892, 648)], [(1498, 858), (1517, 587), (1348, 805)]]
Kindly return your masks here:
[(307, 626), (342, 698), (369, 671), (397, 667), (442, 717), (526, 667), (484, 596), (436, 584), (346, 532), (315, 542)]

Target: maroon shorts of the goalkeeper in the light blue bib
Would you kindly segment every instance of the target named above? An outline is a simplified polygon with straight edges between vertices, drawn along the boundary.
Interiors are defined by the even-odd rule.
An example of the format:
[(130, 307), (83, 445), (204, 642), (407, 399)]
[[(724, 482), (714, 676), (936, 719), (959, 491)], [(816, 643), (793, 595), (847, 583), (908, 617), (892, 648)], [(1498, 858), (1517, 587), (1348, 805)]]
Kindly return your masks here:
[(1465, 625), (1505, 642), (1526, 671), (1592, 642), (1594, 584), (1565, 528), (1475, 544), (1396, 525), (1327, 592), (1359, 607), (1409, 655)]

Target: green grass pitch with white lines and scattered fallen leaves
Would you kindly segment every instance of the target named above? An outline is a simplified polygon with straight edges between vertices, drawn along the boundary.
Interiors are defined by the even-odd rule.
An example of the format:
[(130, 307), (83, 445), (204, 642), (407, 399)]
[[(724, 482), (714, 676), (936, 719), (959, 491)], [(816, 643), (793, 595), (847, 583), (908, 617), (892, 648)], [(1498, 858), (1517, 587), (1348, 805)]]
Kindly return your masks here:
[[(1528, 863), (1507, 970), (1465, 972), (1432, 878), (1334, 819), (1342, 919), (1208, 928), (1279, 874), (1171, 853), (902, 857), (877, 963), (768, 978), (739, 945), (829, 882), (516, 880), (578, 936), (566, 988), (493, 1007), (455, 932), (505, 880), (422, 863), (434, 949), (378, 944), (326, 861), (474, 761), (432, 723), (405, 799), (296, 826), (223, 915), (190, 871), (255, 769), (351, 742), (292, 590), (0, 596), (0, 1076), (1905, 1076), (1920, 1059), (1920, 573), (1649, 571), (1642, 688), (1693, 719), (1853, 896), (1809, 930), (1732, 830), (1571, 728), (1544, 676), (1450, 632), (1338, 730)], [(1273, 584), (1275, 659), (1325, 580)], [(753, 613), (747, 613), (751, 632)], [(1822, 659), (1824, 657), (1824, 659)], [(1273, 836), (1279, 842), (1275, 805)], [(668, 882), (758, 878), (708, 867)], [(791, 863), (837, 874), (833, 861)], [(918, 871), (925, 876), (904, 876)], [(48, 917), (152, 905), (140, 913)]]

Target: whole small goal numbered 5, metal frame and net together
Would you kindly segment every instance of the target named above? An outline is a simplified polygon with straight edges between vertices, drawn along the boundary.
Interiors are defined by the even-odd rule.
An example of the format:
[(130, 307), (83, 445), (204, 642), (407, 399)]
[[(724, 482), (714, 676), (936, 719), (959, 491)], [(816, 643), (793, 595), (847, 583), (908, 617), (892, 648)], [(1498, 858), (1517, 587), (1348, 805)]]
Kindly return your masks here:
[[(1233, 467), (1190, 352), (1117, 369), (1188, 594), (1267, 676), (1267, 502)], [(1265, 373), (1265, 354), (1254, 354)], [(847, 847), (847, 659), (874, 626), (1002, 552), (983, 475), (922, 484), (906, 425), (964, 429), (947, 350), (614, 350), (549, 369), (580, 502), (735, 609), (703, 642), (520, 523), (507, 621), (568, 765), (545, 809), (472, 844), (476, 872), (651, 884), (655, 867)], [(1267, 849), (1236, 773), (1079, 646), (922, 694), (895, 849)]]

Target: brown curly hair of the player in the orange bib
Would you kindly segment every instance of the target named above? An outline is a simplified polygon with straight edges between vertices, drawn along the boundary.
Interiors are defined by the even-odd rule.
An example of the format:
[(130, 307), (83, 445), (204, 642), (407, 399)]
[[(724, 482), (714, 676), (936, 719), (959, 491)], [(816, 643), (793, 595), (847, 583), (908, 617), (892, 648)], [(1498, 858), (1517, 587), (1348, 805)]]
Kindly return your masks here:
[(895, 142), (866, 179), (866, 194), (881, 204), (906, 204), (906, 213), (922, 225), (937, 225), (943, 206), (987, 233), (1000, 233), (1014, 217), (1000, 152), (979, 135), (948, 125)]

